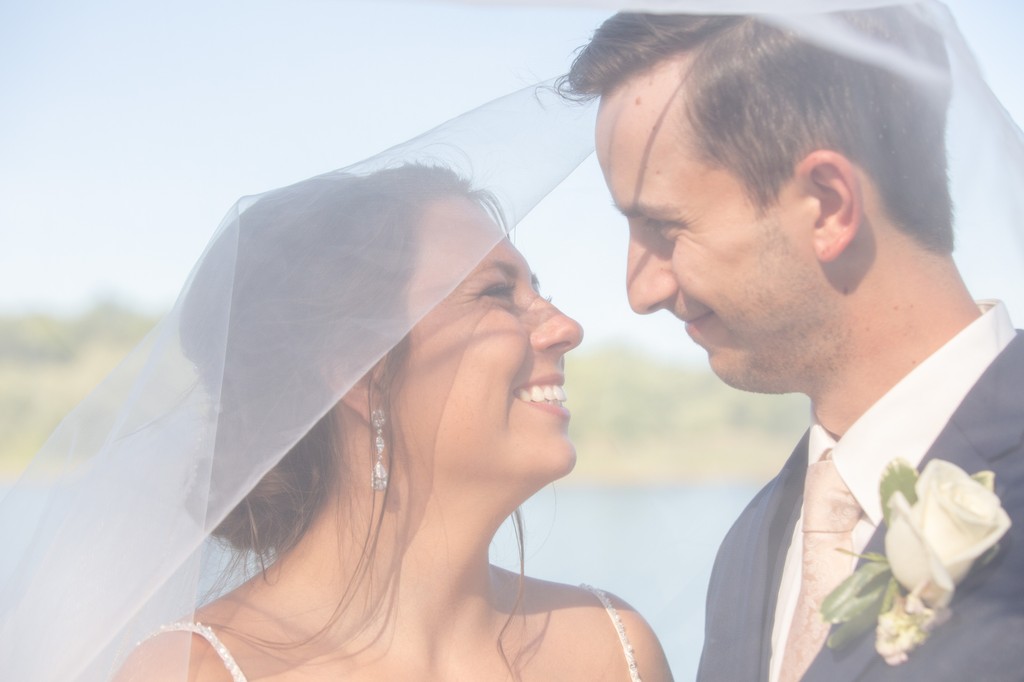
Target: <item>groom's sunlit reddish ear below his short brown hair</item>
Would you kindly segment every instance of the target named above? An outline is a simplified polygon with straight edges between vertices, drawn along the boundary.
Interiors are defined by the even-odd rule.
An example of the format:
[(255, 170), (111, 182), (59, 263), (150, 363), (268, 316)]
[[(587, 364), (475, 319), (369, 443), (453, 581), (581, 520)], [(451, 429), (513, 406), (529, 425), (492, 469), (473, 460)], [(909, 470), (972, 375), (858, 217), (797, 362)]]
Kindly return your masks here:
[(797, 164), (794, 180), (810, 202), (814, 254), (819, 262), (830, 263), (860, 228), (864, 213), (860, 171), (842, 154), (817, 150)]

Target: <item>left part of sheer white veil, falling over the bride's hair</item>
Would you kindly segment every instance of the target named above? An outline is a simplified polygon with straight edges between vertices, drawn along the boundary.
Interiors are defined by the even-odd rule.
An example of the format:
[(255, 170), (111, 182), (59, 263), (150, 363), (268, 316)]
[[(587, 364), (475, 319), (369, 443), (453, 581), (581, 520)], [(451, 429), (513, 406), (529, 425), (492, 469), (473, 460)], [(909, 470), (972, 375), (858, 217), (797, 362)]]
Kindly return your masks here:
[[(542, 84), (240, 200), (172, 310), (4, 500), (5, 524), (32, 526), (2, 578), (5, 674), (104, 679), (126, 645), (190, 611), (210, 531), (504, 236), (332, 229), (336, 216), (357, 218), (353, 187), (393, 211), (438, 195), (429, 171), (366, 190), (360, 179), (449, 169), (488, 191), (498, 224), (514, 224), (587, 156), (591, 113)], [(18, 498), (37, 484), (46, 499), (27, 509)]]

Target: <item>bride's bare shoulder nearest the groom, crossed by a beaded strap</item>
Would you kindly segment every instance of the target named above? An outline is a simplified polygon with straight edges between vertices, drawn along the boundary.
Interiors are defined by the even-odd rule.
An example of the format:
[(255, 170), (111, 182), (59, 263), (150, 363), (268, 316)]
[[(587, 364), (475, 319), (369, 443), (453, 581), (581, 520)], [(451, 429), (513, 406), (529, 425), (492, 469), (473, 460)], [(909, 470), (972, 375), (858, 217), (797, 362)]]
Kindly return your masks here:
[(566, 669), (559, 679), (630, 680), (616, 628), (621, 624), (644, 682), (671, 682), (672, 673), (657, 636), (623, 599), (593, 588), (529, 578), (523, 588), (524, 613), (535, 623), (535, 632), (543, 633), (538, 660), (547, 659), (555, 666), (559, 662), (573, 666), (586, 662), (586, 671)]

